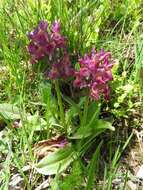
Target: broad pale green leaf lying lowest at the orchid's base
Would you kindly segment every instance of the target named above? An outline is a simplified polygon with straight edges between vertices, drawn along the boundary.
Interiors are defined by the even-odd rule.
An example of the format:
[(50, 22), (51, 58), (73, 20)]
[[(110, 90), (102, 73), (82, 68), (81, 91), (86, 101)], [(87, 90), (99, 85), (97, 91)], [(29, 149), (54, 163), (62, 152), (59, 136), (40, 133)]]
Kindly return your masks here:
[(50, 153), (37, 165), (36, 170), (44, 175), (53, 175), (65, 170), (74, 160), (76, 154), (71, 146)]

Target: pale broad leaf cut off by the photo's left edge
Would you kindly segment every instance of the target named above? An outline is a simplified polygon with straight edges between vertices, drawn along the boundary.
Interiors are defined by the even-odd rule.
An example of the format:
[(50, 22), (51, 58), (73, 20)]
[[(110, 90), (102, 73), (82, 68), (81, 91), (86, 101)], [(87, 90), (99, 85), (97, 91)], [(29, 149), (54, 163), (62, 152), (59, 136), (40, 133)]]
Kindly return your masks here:
[(20, 119), (19, 108), (13, 104), (3, 103), (0, 104), (0, 115), (4, 119), (15, 120)]

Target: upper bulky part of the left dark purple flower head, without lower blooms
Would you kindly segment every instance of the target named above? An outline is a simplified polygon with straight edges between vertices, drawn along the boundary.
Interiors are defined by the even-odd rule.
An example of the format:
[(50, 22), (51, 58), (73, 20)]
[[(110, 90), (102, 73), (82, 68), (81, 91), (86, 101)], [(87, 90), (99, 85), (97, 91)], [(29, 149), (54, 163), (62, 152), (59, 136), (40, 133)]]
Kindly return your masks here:
[[(55, 21), (52, 25), (51, 32), (48, 32), (48, 23), (46, 21), (40, 21), (38, 26), (29, 33), (28, 37), (30, 43), (28, 45), (28, 51), (31, 56), (31, 63), (37, 63), (44, 57), (50, 57), (59, 48), (66, 46), (66, 38), (60, 33), (60, 23)], [(55, 57), (55, 55), (53, 55)]]

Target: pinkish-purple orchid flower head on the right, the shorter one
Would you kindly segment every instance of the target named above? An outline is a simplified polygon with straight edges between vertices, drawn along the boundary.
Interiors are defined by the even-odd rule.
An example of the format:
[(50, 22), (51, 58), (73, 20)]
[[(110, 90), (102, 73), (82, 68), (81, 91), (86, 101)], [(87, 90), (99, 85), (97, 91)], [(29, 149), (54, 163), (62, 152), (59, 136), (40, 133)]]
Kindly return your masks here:
[(113, 80), (111, 53), (103, 49), (96, 52), (92, 49), (90, 55), (85, 55), (79, 59), (80, 69), (75, 72), (76, 79), (74, 86), (88, 88), (90, 96), (99, 100), (103, 95), (105, 100), (109, 100), (109, 81)]

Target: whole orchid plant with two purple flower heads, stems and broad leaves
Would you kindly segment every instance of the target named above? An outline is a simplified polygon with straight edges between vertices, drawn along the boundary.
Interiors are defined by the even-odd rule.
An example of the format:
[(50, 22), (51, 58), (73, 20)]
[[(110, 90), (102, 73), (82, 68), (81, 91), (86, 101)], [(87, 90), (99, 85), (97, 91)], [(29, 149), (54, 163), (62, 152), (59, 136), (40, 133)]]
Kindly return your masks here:
[[(60, 160), (52, 171), (47, 169), (47, 167), (49, 167), (47, 165), (50, 164), (48, 160), (51, 159), (49, 157), (44, 158), (37, 165), (40, 173), (47, 174), (50, 172), (51, 174), (56, 173), (59, 169), (58, 167), (62, 165), (62, 161), (65, 162), (67, 157), (69, 158), (70, 156), (70, 159), (67, 160), (68, 163), (65, 164), (66, 167), (75, 159), (76, 156), (74, 155), (77, 155), (75, 150), (73, 153), (71, 145), (67, 147), (68, 144), (70, 144), (68, 143), (68, 139), (77, 140), (78, 156), (82, 156), (97, 135), (106, 129), (114, 130), (111, 123), (98, 118), (100, 100), (104, 99), (105, 101), (109, 101), (109, 82), (113, 80), (112, 67), (114, 61), (111, 58), (111, 52), (106, 52), (103, 49), (98, 52), (93, 48), (90, 54), (85, 54), (77, 60), (78, 69), (75, 69), (74, 65), (71, 64), (70, 54), (68, 53), (68, 39), (61, 34), (59, 21), (55, 21), (51, 25), (51, 28), (46, 21), (40, 21), (35, 30), (29, 33), (28, 38), (30, 40), (28, 52), (31, 64), (35, 65), (41, 60), (44, 61), (46, 79), (51, 81), (51, 85), (55, 88), (60, 112), (59, 124), (63, 126), (63, 134), (68, 134), (68, 123), (66, 122), (67, 109), (65, 109), (63, 101), (64, 95), (61, 92), (60, 83), (70, 78), (72, 88), (85, 90), (84, 103), (81, 103), (82, 97), (78, 103), (75, 103), (71, 100), (71, 97), (68, 97), (68, 103), (70, 102), (71, 106), (75, 106), (75, 110), (78, 110), (77, 115), (80, 121), (78, 122), (78, 129), (73, 130), (75, 131), (74, 133), (65, 137), (65, 139), (67, 139), (64, 145), (65, 149), (62, 147), (62, 149), (60, 148), (60, 150), (53, 155), (53, 157), (57, 157), (59, 154), (63, 155), (66, 152), (64, 154), (65, 157), (61, 158), (62, 160)], [(73, 115), (70, 115), (71, 120), (72, 118)], [(71, 127), (74, 128), (74, 125)], [(85, 141), (83, 142), (85, 138), (87, 139), (86, 143)], [(60, 171), (65, 169), (62, 166), (61, 168)]]

